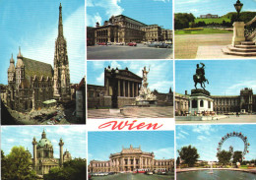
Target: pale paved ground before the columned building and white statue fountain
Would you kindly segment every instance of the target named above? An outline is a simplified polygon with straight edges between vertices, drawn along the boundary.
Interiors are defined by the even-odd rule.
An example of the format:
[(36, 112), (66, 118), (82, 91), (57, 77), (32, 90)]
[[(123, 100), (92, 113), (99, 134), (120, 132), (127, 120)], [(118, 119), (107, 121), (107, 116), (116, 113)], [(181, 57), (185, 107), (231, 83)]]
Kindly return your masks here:
[(89, 109), (88, 118), (173, 118), (173, 106), (125, 107), (121, 109)]

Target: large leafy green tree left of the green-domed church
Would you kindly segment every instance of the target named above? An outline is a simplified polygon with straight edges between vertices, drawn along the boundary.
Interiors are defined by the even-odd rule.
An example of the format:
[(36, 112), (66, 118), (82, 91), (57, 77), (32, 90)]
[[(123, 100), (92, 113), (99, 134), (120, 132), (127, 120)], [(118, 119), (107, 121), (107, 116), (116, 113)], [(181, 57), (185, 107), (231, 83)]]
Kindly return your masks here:
[(11, 152), (2, 156), (2, 180), (35, 180), (35, 172), (32, 171), (31, 154), (24, 147), (13, 147)]

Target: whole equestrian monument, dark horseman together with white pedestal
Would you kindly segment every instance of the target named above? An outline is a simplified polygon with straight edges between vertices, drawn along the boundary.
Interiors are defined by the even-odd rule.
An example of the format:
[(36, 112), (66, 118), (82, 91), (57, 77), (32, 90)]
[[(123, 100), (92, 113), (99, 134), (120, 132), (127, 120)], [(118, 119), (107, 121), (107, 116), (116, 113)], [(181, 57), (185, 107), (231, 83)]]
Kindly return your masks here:
[[(194, 116), (214, 115), (214, 99), (211, 97), (210, 92), (205, 90), (205, 84), (209, 84), (205, 77), (205, 64), (200, 64), (202, 66), (200, 67), (197, 64), (196, 74), (193, 76), (196, 89), (191, 90), (189, 111)], [(197, 84), (200, 84), (202, 89), (197, 89)]]

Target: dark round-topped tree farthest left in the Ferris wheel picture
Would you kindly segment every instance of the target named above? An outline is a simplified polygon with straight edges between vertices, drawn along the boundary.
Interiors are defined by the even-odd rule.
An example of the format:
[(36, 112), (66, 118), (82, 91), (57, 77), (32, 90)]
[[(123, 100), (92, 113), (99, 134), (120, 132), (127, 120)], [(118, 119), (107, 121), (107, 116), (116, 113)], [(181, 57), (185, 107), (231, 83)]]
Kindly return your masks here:
[(197, 149), (195, 147), (182, 147), (181, 150), (178, 150), (179, 156), (189, 167), (194, 166), (195, 162), (198, 160), (200, 155), (197, 153)]

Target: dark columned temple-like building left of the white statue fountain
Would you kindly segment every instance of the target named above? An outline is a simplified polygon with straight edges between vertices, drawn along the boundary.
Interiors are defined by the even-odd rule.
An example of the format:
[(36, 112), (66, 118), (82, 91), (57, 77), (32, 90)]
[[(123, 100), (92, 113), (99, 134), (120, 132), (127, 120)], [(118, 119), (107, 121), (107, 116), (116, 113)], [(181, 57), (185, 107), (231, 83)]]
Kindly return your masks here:
[(142, 78), (125, 70), (104, 69), (104, 86), (88, 85), (88, 107), (123, 107), (135, 103)]

